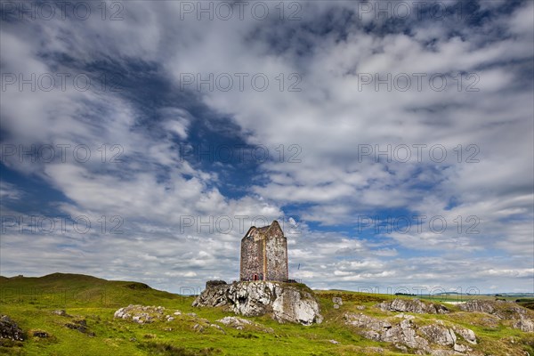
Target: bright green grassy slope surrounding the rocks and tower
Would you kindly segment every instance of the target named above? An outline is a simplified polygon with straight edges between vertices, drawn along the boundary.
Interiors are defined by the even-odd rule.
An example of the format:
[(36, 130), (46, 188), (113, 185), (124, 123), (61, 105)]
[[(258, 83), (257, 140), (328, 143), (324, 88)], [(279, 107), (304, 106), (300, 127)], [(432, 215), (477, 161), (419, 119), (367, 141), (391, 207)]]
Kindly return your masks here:
[[(203, 333), (193, 329), (198, 319), (185, 315), (195, 312), (210, 322), (229, 314), (214, 308), (193, 308), (192, 297), (183, 297), (151, 289), (141, 283), (108, 281), (90, 276), (60, 274), (42, 278), (0, 279), (0, 313), (9, 315), (20, 328), (31, 332), (44, 330), (52, 335), (39, 339), (28, 337), (22, 346), (1, 347), (0, 353), (21, 355), (353, 355), (373, 354), (371, 347), (384, 348), (384, 354), (398, 354), (390, 344), (376, 343), (354, 333), (343, 324), (344, 312), (360, 312), (356, 305), (366, 305), (369, 315), (386, 316), (385, 312), (369, 308), (391, 295), (368, 295), (344, 291), (320, 291), (325, 321), (320, 325), (280, 325), (268, 316), (248, 318), (272, 328), (273, 333), (257, 328), (236, 330), (223, 327), (225, 334), (216, 328)], [(344, 305), (334, 309), (332, 296), (341, 296)], [(171, 322), (137, 325), (125, 320), (113, 320), (113, 313), (130, 303), (161, 305), (172, 314), (183, 314)], [(450, 306), (457, 311), (457, 307)], [(74, 318), (55, 315), (56, 309), (65, 309)], [(64, 324), (76, 319), (87, 320), (94, 337), (65, 328)], [(446, 316), (417, 315), (425, 322), (434, 319), (454, 321), (473, 328), (481, 340), (478, 347), (492, 354), (504, 354), (517, 349), (532, 354), (532, 336), (519, 330), (477, 326), (483, 314), (455, 312)], [(473, 326), (474, 324), (474, 326)], [(483, 322), (480, 323), (483, 325)], [(171, 329), (169, 329), (171, 328)], [(510, 344), (510, 338), (515, 344)], [(530, 339), (529, 339), (530, 337)], [(335, 339), (341, 344), (331, 344)], [(506, 341), (508, 340), (508, 341)], [(519, 344), (518, 344), (519, 343)], [(528, 345), (530, 344), (530, 346)], [(166, 350), (166, 349), (170, 349)], [(512, 353), (514, 354), (514, 353)], [(520, 353), (517, 353), (520, 354)]]

